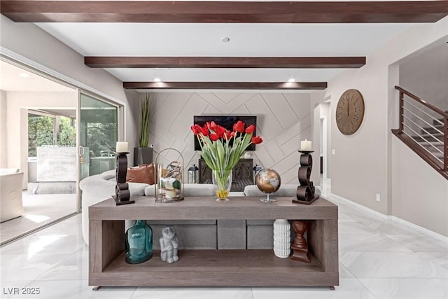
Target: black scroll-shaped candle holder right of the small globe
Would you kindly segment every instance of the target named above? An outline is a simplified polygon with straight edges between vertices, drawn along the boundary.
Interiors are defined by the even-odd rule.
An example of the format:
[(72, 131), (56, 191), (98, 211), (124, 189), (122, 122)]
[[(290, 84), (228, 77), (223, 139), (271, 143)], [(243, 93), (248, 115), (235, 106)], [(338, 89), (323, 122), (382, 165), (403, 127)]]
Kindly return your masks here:
[(314, 151), (298, 151), (300, 155), (300, 167), (298, 172), (300, 186), (297, 187), (297, 200), (293, 200), (295, 204), (311, 204), (319, 198), (316, 194), (314, 183), (310, 180), (311, 168), (313, 167), (313, 158), (311, 153)]

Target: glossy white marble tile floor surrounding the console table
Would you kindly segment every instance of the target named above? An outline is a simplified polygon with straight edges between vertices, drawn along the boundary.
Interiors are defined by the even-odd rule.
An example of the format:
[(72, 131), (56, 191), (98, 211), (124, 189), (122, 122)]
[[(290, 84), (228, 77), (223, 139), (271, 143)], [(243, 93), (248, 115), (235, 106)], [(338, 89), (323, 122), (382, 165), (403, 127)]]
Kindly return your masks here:
[[(323, 192), (325, 194), (325, 190)], [(328, 194), (327, 194), (328, 196)], [(448, 298), (448, 243), (346, 202), (339, 206), (339, 286), (158, 288), (88, 286), (80, 214), (0, 248), (1, 298)], [(39, 294), (14, 295), (39, 290)], [(9, 291), (8, 291), (9, 290)]]

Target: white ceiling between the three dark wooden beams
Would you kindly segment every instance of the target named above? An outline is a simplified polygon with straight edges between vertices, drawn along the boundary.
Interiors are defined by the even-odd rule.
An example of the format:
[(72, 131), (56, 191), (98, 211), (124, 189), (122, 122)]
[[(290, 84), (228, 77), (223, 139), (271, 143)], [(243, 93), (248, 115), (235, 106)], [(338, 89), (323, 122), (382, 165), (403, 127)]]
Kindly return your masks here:
[[(83, 56), (367, 56), (412, 24), (39, 23)], [(228, 37), (228, 43), (221, 42)], [(367, 56), (368, 63), (368, 56)], [(121, 81), (329, 81), (344, 69), (106, 69)]]

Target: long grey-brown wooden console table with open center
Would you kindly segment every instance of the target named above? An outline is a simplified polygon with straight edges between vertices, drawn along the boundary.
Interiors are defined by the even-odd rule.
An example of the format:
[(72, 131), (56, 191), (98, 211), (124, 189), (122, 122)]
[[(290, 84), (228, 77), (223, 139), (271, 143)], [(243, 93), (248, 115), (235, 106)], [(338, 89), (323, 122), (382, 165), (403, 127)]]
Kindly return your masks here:
[[(323, 198), (293, 204), (290, 197), (260, 202), (258, 197), (186, 197), (159, 204), (133, 197), (116, 206), (112, 199), (89, 207), (89, 285), (91, 286), (335, 286), (339, 285), (337, 206)], [(272, 249), (181, 250), (179, 261), (162, 262), (158, 252), (145, 263), (125, 263), (125, 219), (272, 219), (308, 221), (311, 263), (277, 258)], [(154, 240), (153, 242), (157, 242)]]

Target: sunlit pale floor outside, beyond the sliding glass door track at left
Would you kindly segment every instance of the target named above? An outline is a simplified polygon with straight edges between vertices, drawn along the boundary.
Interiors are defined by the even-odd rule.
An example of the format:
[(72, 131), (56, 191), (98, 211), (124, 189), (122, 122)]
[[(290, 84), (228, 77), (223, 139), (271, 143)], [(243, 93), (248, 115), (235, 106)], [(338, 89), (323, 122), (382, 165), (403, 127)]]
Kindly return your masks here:
[(23, 215), (0, 223), (0, 243), (76, 212), (76, 194), (22, 193)]

